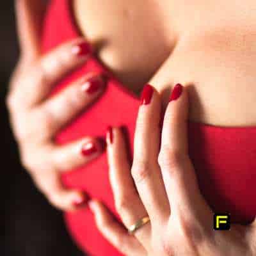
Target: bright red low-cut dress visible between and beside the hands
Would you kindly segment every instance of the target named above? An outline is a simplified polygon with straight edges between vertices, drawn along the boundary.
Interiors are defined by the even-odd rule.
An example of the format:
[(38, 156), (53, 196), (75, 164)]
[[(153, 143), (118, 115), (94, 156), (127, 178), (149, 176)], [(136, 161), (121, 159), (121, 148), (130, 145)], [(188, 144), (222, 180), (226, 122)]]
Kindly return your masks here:
[[(42, 51), (80, 36), (68, 0), (52, 0), (42, 30)], [(53, 93), (87, 72), (109, 77), (106, 92), (92, 108), (63, 129), (56, 141), (68, 143), (81, 136), (105, 136), (108, 125), (125, 125), (131, 152), (140, 99), (125, 89), (97, 58), (65, 77)], [(216, 127), (188, 122), (189, 155), (202, 194), (215, 212), (230, 212), (232, 222), (248, 223), (256, 214), (256, 127)], [(63, 175), (68, 188), (79, 188), (99, 198), (116, 214), (108, 180), (106, 153), (87, 166)], [(116, 214), (117, 215), (117, 214)], [(94, 256), (120, 255), (95, 227), (92, 213), (65, 213), (70, 234), (79, 247)], [(58, 239), (58, 237), (56, 237)]]

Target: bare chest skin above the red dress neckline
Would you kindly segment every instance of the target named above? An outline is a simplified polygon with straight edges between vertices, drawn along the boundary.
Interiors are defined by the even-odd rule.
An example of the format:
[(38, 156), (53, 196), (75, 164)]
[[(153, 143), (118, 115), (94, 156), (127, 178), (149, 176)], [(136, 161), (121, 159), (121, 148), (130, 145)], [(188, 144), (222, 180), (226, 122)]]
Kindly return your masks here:
[(133, 92), (139, 94), (150, 81), (166, 107), (170, 90), (182, 83), (191, 100), (189, 120), (256, 125), (255, 1), (74, 0), (73, 5), (83, 35), (93, 44), (104, 42), (100, 60)]

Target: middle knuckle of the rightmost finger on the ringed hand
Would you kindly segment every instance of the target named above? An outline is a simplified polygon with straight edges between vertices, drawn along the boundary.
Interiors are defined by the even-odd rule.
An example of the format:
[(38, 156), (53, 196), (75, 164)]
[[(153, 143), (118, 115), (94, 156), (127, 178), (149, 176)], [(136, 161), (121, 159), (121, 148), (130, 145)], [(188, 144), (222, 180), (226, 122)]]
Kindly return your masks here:
[(184, 153), (173, 150), (168, 146), (163, 146), (158, 156), (158, 163), (161, 168), (173, 169), (185, 160)]

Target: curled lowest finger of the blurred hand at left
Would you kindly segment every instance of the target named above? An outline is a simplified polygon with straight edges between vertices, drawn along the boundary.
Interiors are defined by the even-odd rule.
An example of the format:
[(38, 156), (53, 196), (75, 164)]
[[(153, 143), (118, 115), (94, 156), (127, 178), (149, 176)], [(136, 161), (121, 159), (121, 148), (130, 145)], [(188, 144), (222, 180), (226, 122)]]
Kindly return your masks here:
[(65, 188), (55, 170), (32, 173), (32, 177), (38, 189), (54, 207), (62, 211), (75, 211), (86, 205), (87, 196), (81, 191)]

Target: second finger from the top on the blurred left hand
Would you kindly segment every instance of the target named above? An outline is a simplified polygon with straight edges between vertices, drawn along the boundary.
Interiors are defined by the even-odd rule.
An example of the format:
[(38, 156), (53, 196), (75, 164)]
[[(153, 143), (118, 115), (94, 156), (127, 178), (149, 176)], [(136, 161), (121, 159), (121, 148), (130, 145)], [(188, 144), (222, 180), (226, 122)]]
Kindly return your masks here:
[[(44, 122), (51, 123), (48, 136), (54, 135), (63, 125), (89, 106), (104, 91), (105, 81), (102, 76), (88, 74), (63, 92), (38, 106), (44, 112)], [(43, 120), (42, 120), (43, 121)]]

